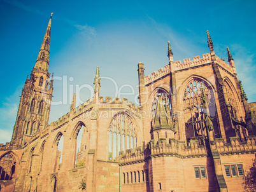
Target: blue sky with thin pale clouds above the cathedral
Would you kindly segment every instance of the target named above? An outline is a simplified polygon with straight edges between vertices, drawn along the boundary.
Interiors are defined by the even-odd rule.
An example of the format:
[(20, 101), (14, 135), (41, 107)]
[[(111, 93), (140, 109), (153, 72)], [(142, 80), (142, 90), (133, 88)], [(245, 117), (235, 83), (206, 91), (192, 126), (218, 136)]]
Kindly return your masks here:
[(51, 12), (49, 72), (56, 77), (53, 102), (62, 105), (52, 105), (50, 121), (68, 113), (75, 90), (80, 102), (90, 99), (97, 66), (103, 97), (115, 97), (115, 86), (123, 86), (120, 92), (127, 94), (122, 97), (136, 102), (138, 63), (145, 64), (146, 75), (168, 64), (167, 41), (174, 60), (202, 58), (210, 52), (207, 30), (218, 57), (227, 58), (229, 46), (248, 102), (255, 102), (256, 1), (159, 2), (0, 0), (0, 143), (11, 140), (18, 96), (36, 63)]

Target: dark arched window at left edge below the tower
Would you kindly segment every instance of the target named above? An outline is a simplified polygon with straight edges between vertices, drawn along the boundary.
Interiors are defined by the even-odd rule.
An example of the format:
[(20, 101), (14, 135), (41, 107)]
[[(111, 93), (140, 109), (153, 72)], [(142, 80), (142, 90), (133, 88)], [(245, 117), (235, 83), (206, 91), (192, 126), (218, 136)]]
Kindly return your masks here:
[(5, 154), (0, 160), (0, 180), (11, 180), (15, 174), (16, 160), (12, 153)]

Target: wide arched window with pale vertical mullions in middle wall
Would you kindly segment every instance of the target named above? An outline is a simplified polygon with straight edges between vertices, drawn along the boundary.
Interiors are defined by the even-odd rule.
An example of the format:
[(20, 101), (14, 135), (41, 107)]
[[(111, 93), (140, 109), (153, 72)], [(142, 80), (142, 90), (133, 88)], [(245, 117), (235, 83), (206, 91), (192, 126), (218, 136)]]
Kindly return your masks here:
[(111, 121), (108, 132), (109, 160), (115, 160), (120, 151), (137, 147), (136, 125), (127, 114), (117, 114)]

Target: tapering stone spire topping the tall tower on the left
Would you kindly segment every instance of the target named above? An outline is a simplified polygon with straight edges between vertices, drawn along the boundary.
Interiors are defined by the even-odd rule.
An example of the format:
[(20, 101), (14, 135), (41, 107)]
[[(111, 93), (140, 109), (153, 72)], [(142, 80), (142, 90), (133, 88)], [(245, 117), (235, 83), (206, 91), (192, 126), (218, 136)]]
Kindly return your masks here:
[(39, 50), (38, 59), (34, 69), (48, 72), (49, 68), (49, 55), (50, 55), (50, 36), (51, 36), (51, 25), (52, 25), (52, 13), (51, 17), (43, 38), (41, 49)]

